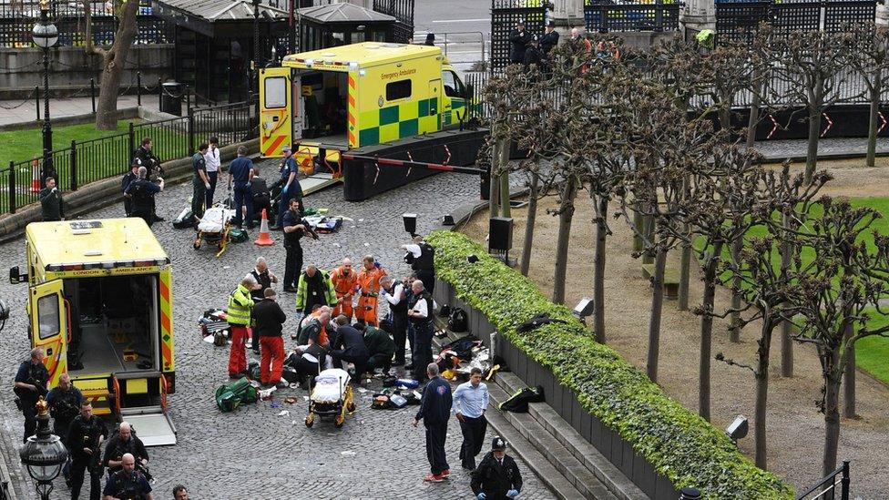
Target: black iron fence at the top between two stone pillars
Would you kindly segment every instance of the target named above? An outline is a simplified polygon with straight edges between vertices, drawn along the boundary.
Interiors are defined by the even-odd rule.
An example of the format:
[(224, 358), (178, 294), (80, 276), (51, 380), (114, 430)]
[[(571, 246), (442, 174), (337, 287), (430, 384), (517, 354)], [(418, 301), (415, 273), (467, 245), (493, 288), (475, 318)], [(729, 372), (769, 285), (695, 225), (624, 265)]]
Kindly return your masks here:
[(585, 0), (587, 31), (676, 31), (680, 26), (680, 5), (667, 2), (616, 3)]

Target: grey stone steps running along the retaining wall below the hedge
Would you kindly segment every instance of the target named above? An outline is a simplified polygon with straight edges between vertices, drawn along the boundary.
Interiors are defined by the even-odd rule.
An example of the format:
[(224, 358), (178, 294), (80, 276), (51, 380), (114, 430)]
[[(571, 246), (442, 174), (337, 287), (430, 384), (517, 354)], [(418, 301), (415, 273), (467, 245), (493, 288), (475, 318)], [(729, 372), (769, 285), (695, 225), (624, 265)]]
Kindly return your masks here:
[[(496, 383), (504, 393), (513, 394), (519, 389), (526, 386), (515, 373), (498, 372), (496, 374)], [(489, 384), (490, 388), (491, 385)], [(515, 416), (514, 420), (527, 423), (533, 421), (536, 423), (535, 432), (538, 430), (550, 436), (557, 445), (567, 450), (567, 453), (574, 458), (578, 464), (582, 464), (582, 468), (567, 467), (557, 465), (557, 468), (565, 470), (563, 473), (572, 480), (575, 485), (585, 485), (589, 481), (592, 485), (588, 486), (591, 490), (601, 495), (601, 489), (604, 488), (608, 496), (596, 496), (597, 498), (618, 498), (620, 500), (648, 500), (649, 496), (645, 495), (639, 486), (633, 484), (625, 474), (623, 474), (615, 464), (612, 464), (602, 454), (598, 452), (595, 446), (590, 444), (584, 437), (577, 433), (569, 423), (565, 421), (549, 404), (547, 403), (531, 403), (528, 405), (528, 413), (507, 413)], [(530, 429), (529, 429), (530, 431)], [(539, 440), (543, 441), (543, 440)], [(550, 445), (546, 444), (547, 446)], [(538, 448), (540, 449), (540, 448)], [(557, 454), (547, 454), (547, 458), (556, 457)], [(577, 474), (572, 474), (572, 473)], [(583, 489), (578, 487), (583, 492)]]

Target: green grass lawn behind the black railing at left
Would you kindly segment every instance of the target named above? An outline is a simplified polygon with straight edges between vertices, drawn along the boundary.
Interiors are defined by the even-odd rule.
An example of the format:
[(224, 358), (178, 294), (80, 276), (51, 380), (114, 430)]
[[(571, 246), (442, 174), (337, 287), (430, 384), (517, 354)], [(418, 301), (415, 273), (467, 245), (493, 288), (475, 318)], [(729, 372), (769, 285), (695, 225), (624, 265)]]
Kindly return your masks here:
[[(72, 140), (88, 140), (91, 138), (104, 138), (129, 128), (129, 121), (139, 123), (141, 120), (118, 121), (118, 130), (97, 130), (96, 125), (86, 123), (83, 125), (70, 125), (67, 127), (53, 128), (53, 146), (56, 149), (69, 148)], [(43, 129), (26, 128), (3, 133), (3, 141), (0, 141), (0, 165), (9, 165), (9, 160), (16, 163), (29, 158), (39, 157), (43, 151)]]

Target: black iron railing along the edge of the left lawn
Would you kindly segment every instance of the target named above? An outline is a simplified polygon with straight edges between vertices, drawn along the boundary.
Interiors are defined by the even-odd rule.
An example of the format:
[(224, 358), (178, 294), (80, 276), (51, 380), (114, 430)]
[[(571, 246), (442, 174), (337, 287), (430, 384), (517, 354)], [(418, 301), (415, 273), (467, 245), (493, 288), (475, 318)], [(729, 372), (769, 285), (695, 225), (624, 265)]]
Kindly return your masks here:
[(166, 161), (187, 158), (210, 136), (220, 144), (259, 137), (256, 102), (220, 107), (189, 108), (185, 117), (133, 123), (127, 132), (103, 138), (71, 141), (67, 148), (46, 151), (41, 157), (11, 160), (0, 168), (0, 214), (39, 200), (46, 177), (54, 177), (59, 189), (76, 191), (81, 186), (123, 175), (142, 138), (151, 138), (152, 152)]

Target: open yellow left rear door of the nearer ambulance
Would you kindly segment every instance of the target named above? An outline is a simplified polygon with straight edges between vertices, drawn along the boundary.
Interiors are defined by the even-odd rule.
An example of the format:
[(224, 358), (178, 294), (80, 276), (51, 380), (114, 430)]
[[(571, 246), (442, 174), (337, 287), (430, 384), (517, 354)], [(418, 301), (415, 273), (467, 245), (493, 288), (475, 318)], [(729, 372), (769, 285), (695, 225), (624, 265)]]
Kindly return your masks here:
[(49, 371), (49, 389), (58, 383), (58, 377), (67, 372), (68, 323), (71, 314), (62, 296), (62, 281), (46, 281), (30, 287), (28, 313), (31, 318), (31, 344), (46, 352), (46, 370)]

